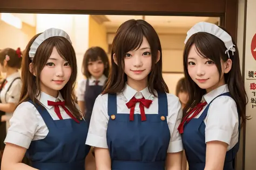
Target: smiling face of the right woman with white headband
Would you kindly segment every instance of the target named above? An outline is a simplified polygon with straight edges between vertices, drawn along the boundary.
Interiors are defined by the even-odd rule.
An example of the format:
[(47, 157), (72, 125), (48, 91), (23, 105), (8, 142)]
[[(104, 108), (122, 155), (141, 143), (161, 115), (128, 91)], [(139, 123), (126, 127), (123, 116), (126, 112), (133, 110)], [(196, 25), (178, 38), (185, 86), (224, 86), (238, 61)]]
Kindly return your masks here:
[(191, 79), (207, 93), (225, 84), (225, 63), (221, 60), (221, 74), (215, 63), (201, 56), (194, 45), (191, 46), (187, 58), (187, 70)]

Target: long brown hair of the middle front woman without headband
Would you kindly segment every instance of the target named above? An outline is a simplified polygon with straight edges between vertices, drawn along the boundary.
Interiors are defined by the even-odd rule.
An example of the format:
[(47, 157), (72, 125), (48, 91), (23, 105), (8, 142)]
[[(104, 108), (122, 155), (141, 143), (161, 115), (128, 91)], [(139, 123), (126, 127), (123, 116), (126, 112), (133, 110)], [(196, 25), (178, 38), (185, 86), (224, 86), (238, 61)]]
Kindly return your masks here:
[[(143, 37), (149, 42), (152, 53), (152, 67), (147, 79), (149, 91), (155, 96), (154, 90), (169, 93), (162, 76), (162, 51), (157, 32), (145, 20), (131, 19), (120, 25), (113, 39), (110, 75), (102, 94), (120, 93), (123, 90), (127, 81), (127, 75), (124, 73), (124, 56), (127, 52), (138, 49), (142, 45)], [(160, 59), (157, 62), (158, 51)], [(116, 55), (117, 64), (113, 60), (113, 54)]]

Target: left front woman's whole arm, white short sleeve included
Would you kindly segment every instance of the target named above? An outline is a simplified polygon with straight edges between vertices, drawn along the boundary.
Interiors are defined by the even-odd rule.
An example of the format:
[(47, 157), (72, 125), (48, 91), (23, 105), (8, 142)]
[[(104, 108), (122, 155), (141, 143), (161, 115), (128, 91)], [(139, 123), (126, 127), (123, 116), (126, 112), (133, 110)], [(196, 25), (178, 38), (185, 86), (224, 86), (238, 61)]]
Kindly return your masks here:
[(19, 104), (10, 119), (10, 128), (4, 140), (2, 169), (33, 169), (22, 164), (22, 160), (37, 130), (36, 108), (29, 102)]

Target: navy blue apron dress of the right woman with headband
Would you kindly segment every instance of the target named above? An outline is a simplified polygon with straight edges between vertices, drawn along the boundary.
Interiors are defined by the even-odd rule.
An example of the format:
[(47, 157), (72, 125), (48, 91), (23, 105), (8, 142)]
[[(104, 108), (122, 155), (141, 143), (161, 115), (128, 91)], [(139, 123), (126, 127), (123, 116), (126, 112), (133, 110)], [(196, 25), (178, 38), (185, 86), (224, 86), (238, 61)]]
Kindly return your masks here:
[[(220, 96), (230, 96), (229, 93), (221, 94)], [(215, 97), (215, 98), (217, 98)], [(230, 96), (231, 97), (231, 96)], [(184, 133), (182, 134), (183, 146), (188, 161), (189, 170), (204, 170), (206, 160), (206, 144), (205, 144), (205, 123), (204, 119), (207, 116), (207, 112), (210, 104), (215, 98), (207, 105), (203, 113), (199, 118), (193, 118), (190, 122), (185, 124)], [(238, 143), (226, 153), (224, 170), (233, 170), (232, 161), (235, 158), (239, 150), (240, 139), (240, 119), (239, 119), (239, 137)]]

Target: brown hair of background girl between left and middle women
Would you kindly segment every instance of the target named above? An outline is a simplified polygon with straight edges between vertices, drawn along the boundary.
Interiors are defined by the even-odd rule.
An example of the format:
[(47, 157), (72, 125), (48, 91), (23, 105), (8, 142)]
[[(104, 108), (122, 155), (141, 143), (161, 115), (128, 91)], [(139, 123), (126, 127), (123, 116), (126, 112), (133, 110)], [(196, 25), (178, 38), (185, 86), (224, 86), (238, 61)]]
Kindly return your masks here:
[(109, 58), (107, 57), (106, 52), (100, 47), (91, 47), (85, 52), (82, 65), (82, 73), (86, 76), (87, 79), (91, 77), (91, 73), (88, 70), (89, 61), (97, 60), (102, 60), (105, 66), (103, 74), (106, 77), (109, 76)]

